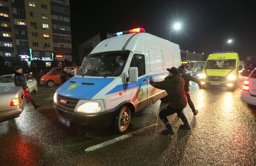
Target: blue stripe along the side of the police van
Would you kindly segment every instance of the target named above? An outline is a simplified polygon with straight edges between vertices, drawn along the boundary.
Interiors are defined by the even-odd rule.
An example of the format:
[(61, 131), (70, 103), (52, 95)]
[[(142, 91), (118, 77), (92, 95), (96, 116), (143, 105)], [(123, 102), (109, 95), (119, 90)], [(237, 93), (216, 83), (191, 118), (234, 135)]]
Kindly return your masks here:
[[(124, 83), (124, 84), (120, 84), (120, 85), (115, 86), (115, 88), (110, 90), (105, 95), (116, 93), (116, 92), (120, 92), (120, 91), (125, 91), (127, 89), (132, 89), (132, 88), (136, 88), (136, 87), (139, 87), (139, 86), (147, 85), (149, 82), (148, 81), (143, 82), (143, 79), (147, 78), (149, 80), (149, 76), (151, 76), (154, 81), (159, 82), (159, 81), (164, 80), (164, 78), (166, 76), (168, 76), (168, 74), (169, 74), (169, 72), (148, 75), (148, 76), (145, 76), (145, 77), (142, 77), (142, 78), (138, 79), (138, 83)], [(160, 75), (162, 75), (162, 77), (159, 77)]]

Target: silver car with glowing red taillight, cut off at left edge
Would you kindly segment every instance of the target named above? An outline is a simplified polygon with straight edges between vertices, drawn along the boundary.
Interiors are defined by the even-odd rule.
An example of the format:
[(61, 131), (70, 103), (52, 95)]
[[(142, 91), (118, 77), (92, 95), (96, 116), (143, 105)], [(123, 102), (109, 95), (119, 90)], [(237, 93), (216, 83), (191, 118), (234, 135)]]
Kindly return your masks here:
[(19, 117), (26, 98), (21, 86), (0, 87), (0, 122)]

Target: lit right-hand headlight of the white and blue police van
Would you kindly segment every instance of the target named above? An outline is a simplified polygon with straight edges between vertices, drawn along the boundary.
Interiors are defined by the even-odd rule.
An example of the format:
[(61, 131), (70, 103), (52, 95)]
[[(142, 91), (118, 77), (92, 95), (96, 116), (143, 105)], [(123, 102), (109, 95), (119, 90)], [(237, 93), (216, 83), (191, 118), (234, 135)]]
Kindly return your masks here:
[(100, 109), (101, 109), (100, 103), (89, 102), (89, 103), (83, 103), (81, 106), (77, 108), (77, 111), (84, 112), (84, 113), (96, 113), (96, 112), (99, 112)]

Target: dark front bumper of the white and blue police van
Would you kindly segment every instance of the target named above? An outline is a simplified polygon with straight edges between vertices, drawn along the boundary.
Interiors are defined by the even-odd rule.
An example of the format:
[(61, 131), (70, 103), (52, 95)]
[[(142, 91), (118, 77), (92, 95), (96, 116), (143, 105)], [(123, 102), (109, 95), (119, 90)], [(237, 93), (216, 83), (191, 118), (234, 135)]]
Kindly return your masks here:
[(85, 114), (80, 112), (65, 111), (58, 107), (56, 103), (53, 103), (53, 107), (60, 117), (65, 118), (72, 124), (88, 126), (92, 129), (100, 129), (111, 126), (118, 111), (118, 108), (115, 108), (97, 114)]

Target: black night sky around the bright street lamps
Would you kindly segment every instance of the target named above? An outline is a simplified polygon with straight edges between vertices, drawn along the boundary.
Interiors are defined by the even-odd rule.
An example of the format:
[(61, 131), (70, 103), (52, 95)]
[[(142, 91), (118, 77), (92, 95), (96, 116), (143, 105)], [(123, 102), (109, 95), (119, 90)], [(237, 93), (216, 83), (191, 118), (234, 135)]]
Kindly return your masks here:
[[(73, 54), (98, 32), (143, 27), (191, 52), (238, 52), (256, 56), (256, 0), (70, 0)], [(173, 24), (182, 24), (174, 31)]]

